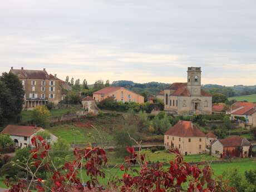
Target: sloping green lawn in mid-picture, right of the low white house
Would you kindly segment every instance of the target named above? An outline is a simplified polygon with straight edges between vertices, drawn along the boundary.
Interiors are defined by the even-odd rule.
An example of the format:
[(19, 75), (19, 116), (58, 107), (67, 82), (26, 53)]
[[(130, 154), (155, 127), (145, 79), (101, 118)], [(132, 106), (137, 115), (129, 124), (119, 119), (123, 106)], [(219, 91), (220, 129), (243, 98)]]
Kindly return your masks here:
[(76, 124), (63, 124), (53, 126), (47, 129), (53, 135), (65, 139), (70, 144), (86, 145), (88, 142), (101, 144), (112, 141), (112, 136), (102, 129), (93, 129), (92, 127), (80, 127)]

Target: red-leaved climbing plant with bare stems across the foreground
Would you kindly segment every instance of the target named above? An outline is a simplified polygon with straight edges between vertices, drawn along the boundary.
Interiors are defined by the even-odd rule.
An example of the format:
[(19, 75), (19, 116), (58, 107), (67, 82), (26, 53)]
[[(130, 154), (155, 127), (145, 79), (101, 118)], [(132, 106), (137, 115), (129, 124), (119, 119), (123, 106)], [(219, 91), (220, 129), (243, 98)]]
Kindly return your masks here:
[[(105, 168), (107, 164), (106, 152), (100, 147), (87, 147), (86, 149), (76, 148), (73, 151), (75, 160), (64, 163), (61, 168), (56, 168), (50, 158), (50, 144), (41, 136), (33, 137), (33, 149), (31, 150), (32, 164), (27, 163), (22, 166), (16, 164), (19, 168), (28, 171), (31, 179), (28, 184), (23, 181), (17, 183), (8, 183), (10, 192), (30, 191), (36, 188), (38, 192), (43, 191), (85, 191), (96, 188), (102, 191), (98, 178), (105, 178)], [(121, 192), (164, 192), (164, 191), (196, 191), (196, 192), (224, 192), (236, 191), (228, 186), (227, 181), (220, 177), (213, 179), (213, 173), (210, 166), (199, 168), (197, 165), (190, 165), (184, 162), (183, 156), (178, 150), (170, 150), (176, 155), (174, 161), (170, 161), (168, 168), (163, 163), (149, 164), (145, 160), (145, 155), (141, 151), (135, 151), (134, 147), (127, 147), (130, 156), (125, 157), (125, 162), (120, 166), (124, 171), (122, 178), (117, 176), (109, 180), (106, 186), (108, 191)], [(134, 165), (139, 165), (134, 168)], [(32, 171), (31, 166), (36, 170)], [(51, 174), (52, 182), (46, 185), (41, 178), (38, 178), (37, 172), (40, 169), (46, 169)], [(137, 168), (137, 169), (136, 169)], [(86, 182), (82, 177), (82, 170), (90, 179)], [(86, 183), (83, 184), (83, 183)]]

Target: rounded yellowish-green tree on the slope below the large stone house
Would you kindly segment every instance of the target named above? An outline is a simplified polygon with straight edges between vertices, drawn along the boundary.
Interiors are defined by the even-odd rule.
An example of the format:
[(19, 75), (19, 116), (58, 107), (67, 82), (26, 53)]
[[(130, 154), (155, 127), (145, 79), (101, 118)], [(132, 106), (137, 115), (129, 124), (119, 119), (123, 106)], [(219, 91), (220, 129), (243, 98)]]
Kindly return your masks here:
[(32, 112), (33, 122), (37, 126), (46, 127), (50, 124), (51, 113), (45, 105), (38, 105)]

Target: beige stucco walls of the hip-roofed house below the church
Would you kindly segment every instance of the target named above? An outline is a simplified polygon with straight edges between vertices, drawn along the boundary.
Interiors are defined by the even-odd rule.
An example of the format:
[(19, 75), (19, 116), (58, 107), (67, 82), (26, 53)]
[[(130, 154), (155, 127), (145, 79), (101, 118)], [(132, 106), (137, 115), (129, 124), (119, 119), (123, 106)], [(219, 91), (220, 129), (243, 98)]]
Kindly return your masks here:
[(164, 145), (166, 149), (171, 147), (171, 142), (173, 142), (174, 148), (179, 149), (183, 155), (196, 155), (206, 152), (206, 137), (178, 137), (165, 135)]

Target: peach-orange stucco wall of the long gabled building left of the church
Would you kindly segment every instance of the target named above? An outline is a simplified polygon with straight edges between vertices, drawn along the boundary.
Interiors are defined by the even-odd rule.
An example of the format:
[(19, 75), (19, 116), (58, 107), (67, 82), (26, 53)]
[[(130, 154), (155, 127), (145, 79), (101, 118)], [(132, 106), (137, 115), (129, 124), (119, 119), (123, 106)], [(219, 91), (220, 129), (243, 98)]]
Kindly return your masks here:
[[(129, 97), (130, 95), (130, 97)], [(102, 101), (104, 99), (106, 99), (107, 97), (114, 97), (116, 99), (116, 101), (122, 101), (122, 102), (137, 102), (139, 104), (144, 103), (144, 97), (127, 90), (124, 87), (121, 87), (119, 90), (113, 91), (111, 93), (108, 94), (93, 94), (93, 99), (95, 99), (96, 101)]]

